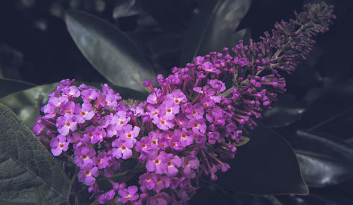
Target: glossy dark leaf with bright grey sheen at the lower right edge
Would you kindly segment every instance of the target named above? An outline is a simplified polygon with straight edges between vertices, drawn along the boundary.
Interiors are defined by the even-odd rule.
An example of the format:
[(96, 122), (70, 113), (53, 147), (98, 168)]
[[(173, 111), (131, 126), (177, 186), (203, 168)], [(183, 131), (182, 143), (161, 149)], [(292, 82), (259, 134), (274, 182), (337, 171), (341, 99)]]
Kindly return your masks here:
[(299, 130), (291, 142), (309, 186), (337, 185), (353, 178), (353, 147), (342, 139)]

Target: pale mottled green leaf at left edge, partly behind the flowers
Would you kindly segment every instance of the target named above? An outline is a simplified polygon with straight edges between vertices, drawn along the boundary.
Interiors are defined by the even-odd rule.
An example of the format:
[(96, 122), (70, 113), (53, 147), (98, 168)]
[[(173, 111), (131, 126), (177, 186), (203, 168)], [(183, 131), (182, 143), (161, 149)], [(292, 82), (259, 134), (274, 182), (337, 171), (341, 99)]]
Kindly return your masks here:
[(40, 108), (47, 104), (48, 94), (54, 92), (57, 85), (58, 82), (55, 82), (25, 89), (0, 99), (0, 103), (10, 107), (18, 118), (30, 128), (40, 116)]

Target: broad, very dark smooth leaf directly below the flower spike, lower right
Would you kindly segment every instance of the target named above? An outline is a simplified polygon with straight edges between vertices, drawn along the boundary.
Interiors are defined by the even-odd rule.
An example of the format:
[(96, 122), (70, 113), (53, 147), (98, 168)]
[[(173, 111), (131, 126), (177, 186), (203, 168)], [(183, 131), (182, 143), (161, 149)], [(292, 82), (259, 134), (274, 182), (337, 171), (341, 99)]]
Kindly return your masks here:
[(258, 125), (249, 138), (227, 161), (231, 168), (218, 175), (218, 184), (250, 194), (308, 194), (297, 157), (283, 137)]

